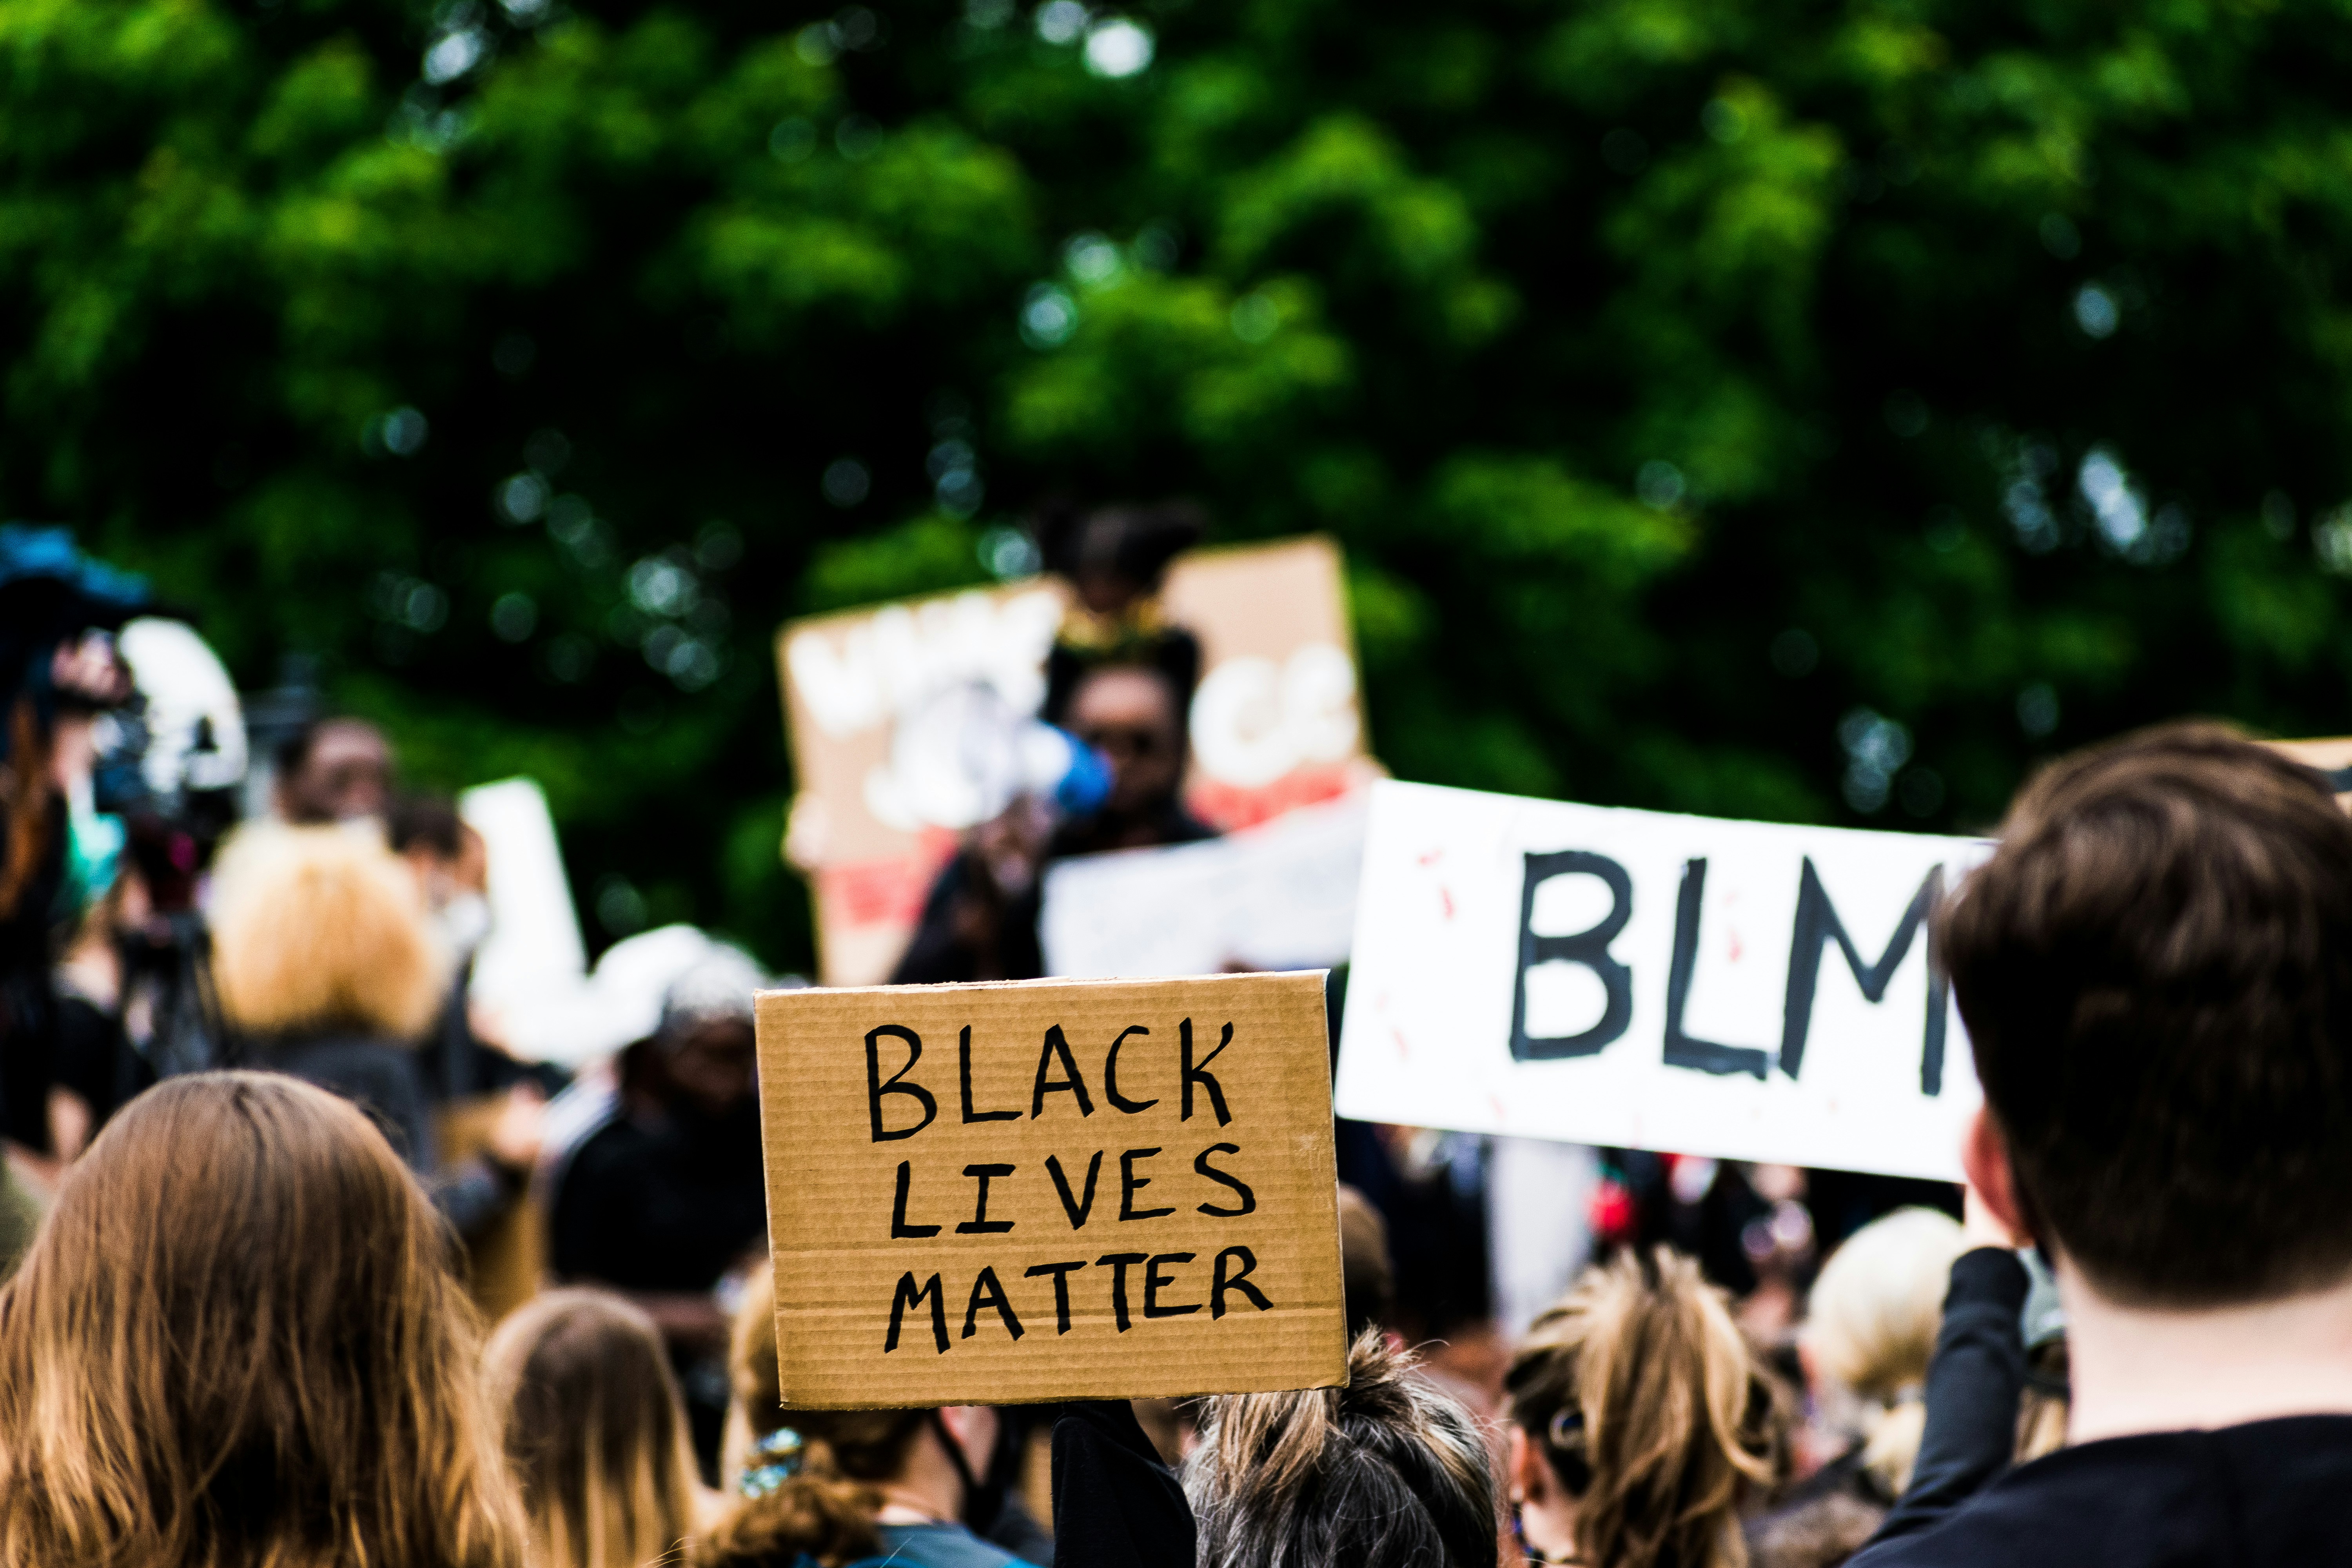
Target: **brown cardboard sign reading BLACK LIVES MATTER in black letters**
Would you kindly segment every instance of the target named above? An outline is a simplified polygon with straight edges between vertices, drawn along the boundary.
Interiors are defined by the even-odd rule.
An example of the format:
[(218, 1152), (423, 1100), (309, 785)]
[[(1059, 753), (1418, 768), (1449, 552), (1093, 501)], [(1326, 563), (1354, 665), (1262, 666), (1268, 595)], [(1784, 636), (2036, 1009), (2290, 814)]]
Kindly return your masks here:
[(1345, 1382), (1324, 976), (760, 994), (783, 1403)]

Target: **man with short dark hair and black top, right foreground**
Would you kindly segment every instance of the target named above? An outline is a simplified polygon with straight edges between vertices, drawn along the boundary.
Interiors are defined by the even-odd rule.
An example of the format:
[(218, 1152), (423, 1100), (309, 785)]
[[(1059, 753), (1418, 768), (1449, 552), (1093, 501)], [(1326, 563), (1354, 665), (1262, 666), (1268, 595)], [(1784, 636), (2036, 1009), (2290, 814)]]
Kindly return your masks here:
[(1917, 1533), (1853, 1561), (2352, 1561), (2352, 820), (2326, 780), (2211, 724), (2067, 757), (1938, 945), (1985, 1086), (1969, 1180), (2058, 1274), (2072, 1446), (1940, 1521), (1898, 1509)]

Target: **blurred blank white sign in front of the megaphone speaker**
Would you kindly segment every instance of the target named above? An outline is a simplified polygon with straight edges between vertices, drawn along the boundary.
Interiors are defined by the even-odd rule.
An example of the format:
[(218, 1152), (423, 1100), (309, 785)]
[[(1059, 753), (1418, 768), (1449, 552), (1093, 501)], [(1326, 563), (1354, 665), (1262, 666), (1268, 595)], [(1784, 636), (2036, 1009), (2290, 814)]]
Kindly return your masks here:
[(1348, 961), (1364, 792), (1202, 844), (1047, 867), (1037, 936), (1056, 976), (1207, 976)]

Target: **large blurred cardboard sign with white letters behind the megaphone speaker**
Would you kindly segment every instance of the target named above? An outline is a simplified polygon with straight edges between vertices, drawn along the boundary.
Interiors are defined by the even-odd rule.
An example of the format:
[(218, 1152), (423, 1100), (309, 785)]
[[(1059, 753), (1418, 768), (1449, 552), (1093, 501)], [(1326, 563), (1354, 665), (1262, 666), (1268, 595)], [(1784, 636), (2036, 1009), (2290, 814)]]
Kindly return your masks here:
[[(828, 985), (889, 976), (957, 835), (988, 809), (971, 722), (1033, 715), (1068, 592), (1058, 578), (793, 621), (776, 635)], [(1334, 799), (1367, 771), (1338, 545), (1195, 550), (1160, 604), (1200, 637), (1185, 802), (1216, 827)]]

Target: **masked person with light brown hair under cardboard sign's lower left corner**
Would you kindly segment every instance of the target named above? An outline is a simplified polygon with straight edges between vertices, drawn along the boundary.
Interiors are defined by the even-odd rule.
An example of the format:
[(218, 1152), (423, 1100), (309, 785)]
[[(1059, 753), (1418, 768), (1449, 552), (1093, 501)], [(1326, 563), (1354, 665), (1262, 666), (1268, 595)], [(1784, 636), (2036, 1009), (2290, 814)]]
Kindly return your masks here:
[[(997, 1413), (786, 1410), (776, 1375), (774, 1276), (736, 1309), (729, 1354), (729, 1472), (736, 1500), (694, 1544), (694, 1568), (1037, 1568), (1051, 1556), (1000, 1486)], [(997, 1540), (983, 1540), (976, 1528)]]

